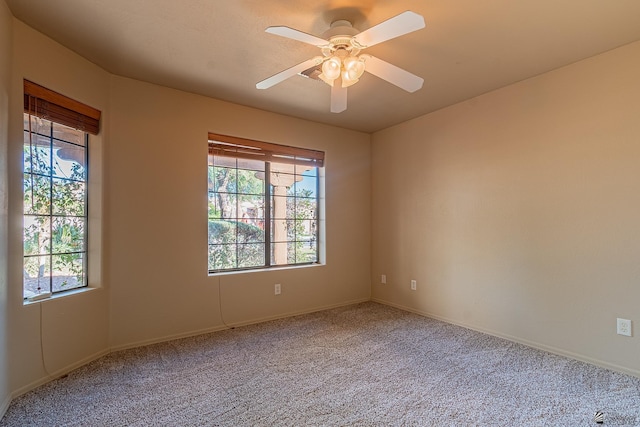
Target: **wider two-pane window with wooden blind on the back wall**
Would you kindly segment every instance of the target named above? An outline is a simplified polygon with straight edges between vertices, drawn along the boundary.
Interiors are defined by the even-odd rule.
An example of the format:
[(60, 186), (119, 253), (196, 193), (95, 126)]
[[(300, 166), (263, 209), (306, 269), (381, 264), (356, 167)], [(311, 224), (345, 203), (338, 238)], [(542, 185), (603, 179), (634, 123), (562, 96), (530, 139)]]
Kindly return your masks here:
[(209, 272), (319, 262), (321, 151), (209, 134)]

